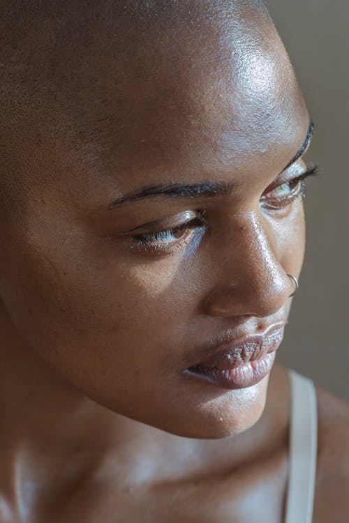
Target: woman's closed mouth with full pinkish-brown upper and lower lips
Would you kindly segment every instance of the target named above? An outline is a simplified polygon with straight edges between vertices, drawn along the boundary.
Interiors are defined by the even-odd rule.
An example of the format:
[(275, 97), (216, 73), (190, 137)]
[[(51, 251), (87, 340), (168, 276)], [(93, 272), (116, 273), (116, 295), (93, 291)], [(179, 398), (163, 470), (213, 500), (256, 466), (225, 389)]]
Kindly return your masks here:
[(269, 374), (285, 330), (285, 323), (218, 347), (213, 354), (184, 370), (189, 378), (233, 390), (257, 384)]

